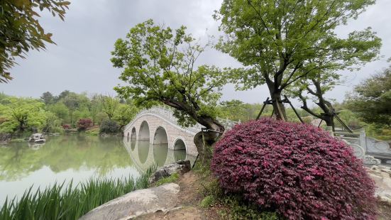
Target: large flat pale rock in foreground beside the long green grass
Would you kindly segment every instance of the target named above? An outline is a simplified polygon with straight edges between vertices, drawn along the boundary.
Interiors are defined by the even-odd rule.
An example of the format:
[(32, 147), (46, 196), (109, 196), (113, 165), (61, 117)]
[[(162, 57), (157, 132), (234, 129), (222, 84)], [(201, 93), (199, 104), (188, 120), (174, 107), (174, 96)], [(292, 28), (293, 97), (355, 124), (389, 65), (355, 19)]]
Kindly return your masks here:
[(175, 209), (180, 186), (175, 183), (140, 189), (123, 195), (82, 216), (82, 220), (134, 219), (143, 214)]

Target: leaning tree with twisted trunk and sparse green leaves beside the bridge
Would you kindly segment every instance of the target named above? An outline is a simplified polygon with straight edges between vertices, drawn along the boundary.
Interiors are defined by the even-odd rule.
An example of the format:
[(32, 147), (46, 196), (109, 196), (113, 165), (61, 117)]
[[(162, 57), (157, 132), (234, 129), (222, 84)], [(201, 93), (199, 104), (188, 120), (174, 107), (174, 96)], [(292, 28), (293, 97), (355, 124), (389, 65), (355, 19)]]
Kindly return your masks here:
[(204, 160), (210, 156), (204, 153), (204, 143), (212, 145), (224, 132), (214, 106), (226, 77), (217, 67), (196, 67), (207, 44), (199, 45), (185, 30), (184, 26), (176, 30), (156, 26), (148, 20), (131, 28), (125, 39), (116, 40), (111, 62), (123, 70), (119, 79), (126, 84), (114, 89), (122, 98), (131, 97), (136, 106), (172, 107), (182, 126), (205, 126), (207, 131), (194, 137)]

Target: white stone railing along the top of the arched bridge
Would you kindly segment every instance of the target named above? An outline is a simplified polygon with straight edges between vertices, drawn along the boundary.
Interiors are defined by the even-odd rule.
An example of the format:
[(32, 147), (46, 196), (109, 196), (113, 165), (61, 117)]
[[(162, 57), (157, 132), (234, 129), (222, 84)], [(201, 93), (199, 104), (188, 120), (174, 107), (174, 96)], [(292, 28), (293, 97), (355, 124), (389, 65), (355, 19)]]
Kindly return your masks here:
[[(133, 122), (136, 119), (138, 119), (138, 117), (142, 116), (143, 114), (157, 114), (157, 115), (165, 118), (167, 121), (170, 121), (172, 123), (177, 124), (177, 118), (174, 116), (174, 112), (171, 109), (166, 109), (163, 107), (156, 106), (156, 107), (152, 107), (150, 109), (143, 109), (140, 112), (138, 112), (138, 114), (134, 117), (134, 119), (125, 126), (124, 131), (128, 130), (130, 128), (131, 124), (133, 124)], [(226, 130), (229, 130), (233, 126), (235, 126), (236, 124), (241, 123), (241, 121), (231, 121), (229, 119), (217, 118), (217, 120), (224, 126), (224, 128), (226, 128)], [(201, 131), (201, 128), (204, 128), (204, 126), (197, 123), (196, 125), (194, 125), (192, 127), (185, 128), (185, 129), (187, 129), (188, 131), (192, 131), (193, 133), (198, 133), (199, 131)]]

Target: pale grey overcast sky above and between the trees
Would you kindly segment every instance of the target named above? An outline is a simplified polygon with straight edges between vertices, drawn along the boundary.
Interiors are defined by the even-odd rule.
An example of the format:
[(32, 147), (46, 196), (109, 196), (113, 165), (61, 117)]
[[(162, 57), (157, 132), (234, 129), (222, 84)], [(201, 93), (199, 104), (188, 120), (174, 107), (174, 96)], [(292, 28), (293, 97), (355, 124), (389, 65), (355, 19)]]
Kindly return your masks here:
[[(0, 92), (23, 97), (40, 97), (50, 91), (57, 95), (65, 89), (72, 92), (115, 94), (112, 89), (120, 82), (121, 70), (112, 67), (110, 52), (114, 42), (148, 18), (155, 23), (164, 23), (172, 28), (185, 25), (196, 38), (206, 34), (218, 36), (219, 23), (211, 15), (219, 9), (222, 0), (78, 0), (71, 1), (65, 22), (43, 13), (39, 19), (45, 31), (53, 33), (57, 45), (48, 45), (45, 51), (31, 51), (26, 60), (18, 60), (11, 70), (14, 79), (9, 84), (0, 84)], [(346, 92), (376, 71), (388, 67), (391, 57), (391, 1), (378, 0), (358, 20), (338, 28), (341, 36), (351, 31), (371, 26), (382, 38), (381, 55), (378, 61), (368, 63), (359, 72), (344, 72), (346, 84), (327, 94), (342, 101)], [(220, 67), (238, 67), (233, 58), (210, 49), (200, 63)], [(251, 91), (236, 92), (232, 85), (223, 91), (223, 99), (240, 99), (248, 103), (262, 102), (268, 97), (265, 86)]]

